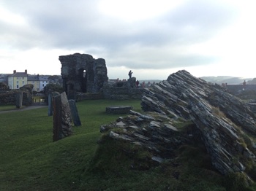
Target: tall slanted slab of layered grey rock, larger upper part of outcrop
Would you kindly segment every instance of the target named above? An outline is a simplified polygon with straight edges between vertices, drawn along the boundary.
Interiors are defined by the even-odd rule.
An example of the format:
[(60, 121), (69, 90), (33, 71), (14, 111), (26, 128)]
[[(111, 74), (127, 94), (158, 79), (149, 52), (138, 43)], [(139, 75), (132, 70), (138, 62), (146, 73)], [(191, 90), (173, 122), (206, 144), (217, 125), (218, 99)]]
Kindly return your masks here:
[(219, 85), (178, 71), (146, 90), (141, 104), (146, 111), (192, 120), (202, 133), (213, 165), (222, 174), (244, 171), (241, 156), (255, 160), (254, 150), (243, 140), (246, 132), (256, 135), (255, 114)]

